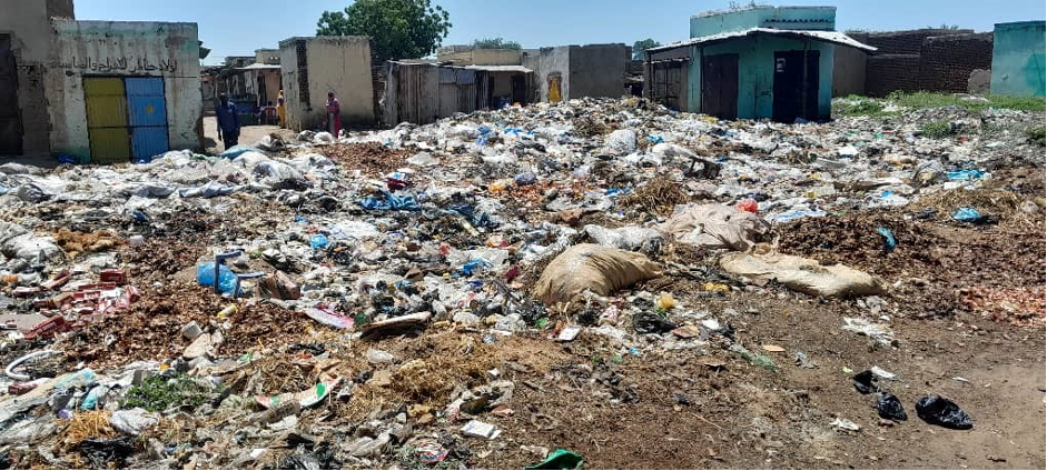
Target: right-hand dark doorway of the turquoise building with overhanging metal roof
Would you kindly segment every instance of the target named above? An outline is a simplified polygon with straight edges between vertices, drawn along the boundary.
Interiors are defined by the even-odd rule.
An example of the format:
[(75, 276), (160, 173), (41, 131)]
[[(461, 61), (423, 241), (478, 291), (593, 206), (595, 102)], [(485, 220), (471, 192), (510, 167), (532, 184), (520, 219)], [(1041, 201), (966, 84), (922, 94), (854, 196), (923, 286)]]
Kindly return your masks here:
[(774, 52), (774, 121), (818, 119), (819, 58), (819, 51)]

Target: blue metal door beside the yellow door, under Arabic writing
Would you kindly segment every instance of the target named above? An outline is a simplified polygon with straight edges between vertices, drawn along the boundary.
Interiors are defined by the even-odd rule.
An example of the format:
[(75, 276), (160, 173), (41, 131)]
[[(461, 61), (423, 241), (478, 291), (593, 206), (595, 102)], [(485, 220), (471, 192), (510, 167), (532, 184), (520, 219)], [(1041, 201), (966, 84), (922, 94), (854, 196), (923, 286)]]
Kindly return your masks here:
[(164, 79), (128, 78), (125, 81), (131, 128), (131, 154), (136, 162), (148, 162), (170, 150)]

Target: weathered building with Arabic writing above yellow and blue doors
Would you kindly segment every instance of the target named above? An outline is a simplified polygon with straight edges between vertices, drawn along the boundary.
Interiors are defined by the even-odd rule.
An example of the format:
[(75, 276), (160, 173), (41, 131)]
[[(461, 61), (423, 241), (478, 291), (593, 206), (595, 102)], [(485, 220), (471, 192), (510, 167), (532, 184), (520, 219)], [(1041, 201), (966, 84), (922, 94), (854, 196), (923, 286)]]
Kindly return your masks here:
[[(93, 163), (201, 147), (195, 23), (77, 21), (68, 1), (13, 3), (13, 17), (0, 17), (0, 31), (16, 51), (16, 67), (26, 70), (17, 91), (26, 124), (19, 146), (4, 147)], [(8, 24), (10, 18), (31, 28)]]

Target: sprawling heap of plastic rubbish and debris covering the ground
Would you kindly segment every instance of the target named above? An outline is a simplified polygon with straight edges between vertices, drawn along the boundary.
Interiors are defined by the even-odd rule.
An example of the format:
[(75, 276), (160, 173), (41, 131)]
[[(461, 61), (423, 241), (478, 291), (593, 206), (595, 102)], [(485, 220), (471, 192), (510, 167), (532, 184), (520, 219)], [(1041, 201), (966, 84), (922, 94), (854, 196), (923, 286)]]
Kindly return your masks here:
[[(1043, 329), (1045, 153), (1021, 132), (1043, 113), (929, 112), (779, 124), (586, 99), (0, 166), (0, 460), (573, 469), (586, 457), (513, 433), (570, 427), (522, 393), (571, 379), (635, 403), (616, 364), (676, 351), (793, 368), (737, 333), (754, 312), (712, 302), (842, 307), (827, 335), (887, 350), (906, 348), (895, 317)], [(929, 119), (955, 136), (921, 136)], [(880, 392), (883, 418), (971, 423)]]

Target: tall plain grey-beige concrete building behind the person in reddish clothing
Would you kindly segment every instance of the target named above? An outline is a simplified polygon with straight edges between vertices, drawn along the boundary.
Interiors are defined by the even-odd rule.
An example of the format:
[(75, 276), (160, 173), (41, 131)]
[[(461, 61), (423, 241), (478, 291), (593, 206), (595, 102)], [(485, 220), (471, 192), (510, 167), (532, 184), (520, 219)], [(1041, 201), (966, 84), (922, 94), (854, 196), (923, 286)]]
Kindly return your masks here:
[(360, 36), (290, 38), (280, 41), (287, 126), (323, 129), (327, 93), (342, 102), (343, 127), (375, 123), (371, 40)]

